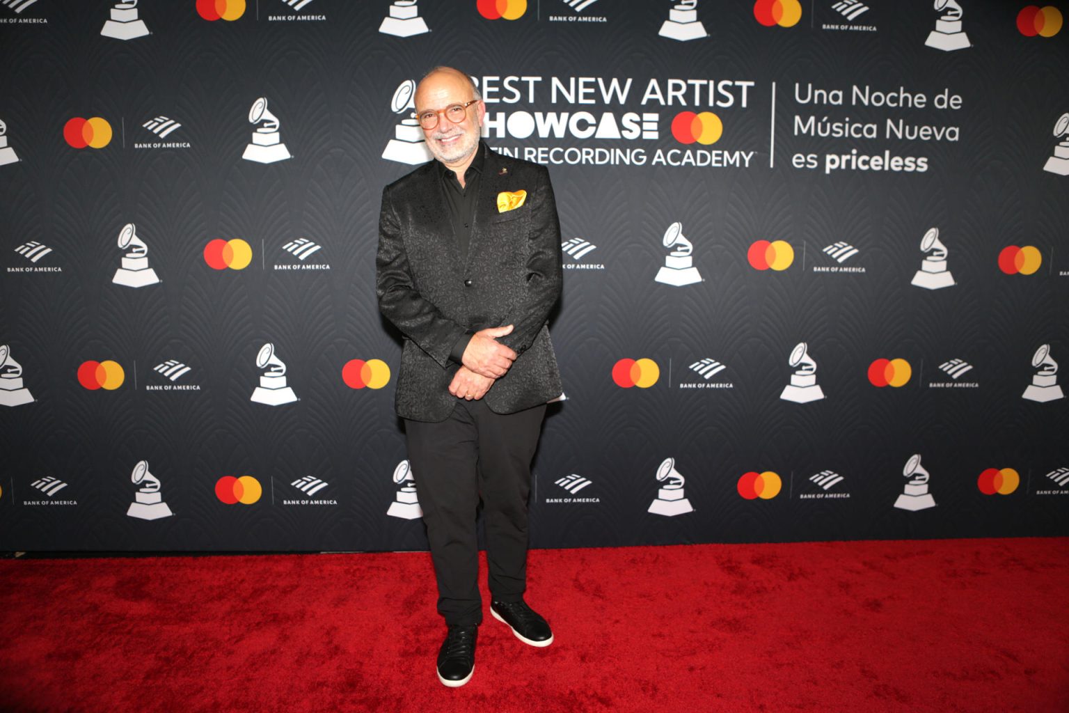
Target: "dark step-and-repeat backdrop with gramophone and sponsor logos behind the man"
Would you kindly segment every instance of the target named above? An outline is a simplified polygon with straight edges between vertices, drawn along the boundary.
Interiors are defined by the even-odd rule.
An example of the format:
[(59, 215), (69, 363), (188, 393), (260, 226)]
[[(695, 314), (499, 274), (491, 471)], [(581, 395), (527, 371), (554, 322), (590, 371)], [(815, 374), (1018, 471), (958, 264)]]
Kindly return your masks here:
[(422, 549), (382, 188), (545, 164), (534, 546), (1069, 534), (1069, 4), (0, 0), (0, 549)]

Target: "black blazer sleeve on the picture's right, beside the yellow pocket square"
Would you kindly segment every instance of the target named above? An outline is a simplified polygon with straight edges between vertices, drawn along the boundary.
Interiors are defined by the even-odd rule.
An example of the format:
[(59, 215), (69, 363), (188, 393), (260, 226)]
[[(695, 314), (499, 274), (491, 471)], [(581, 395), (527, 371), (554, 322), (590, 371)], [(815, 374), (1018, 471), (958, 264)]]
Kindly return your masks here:
[(560, 298), (562, 270), (560, 266), (560, 220), (553, 197), (549, 171), (539, 167), (539, 182), (532, 197), (531, 228), (527, 239), (527, 283), (522, 297), (509, 310), (501, 325), (515, 325), (511, 334), (498, 342), (516, 354), (523, 354), (538, 337), (549, 319), (549, 310)]

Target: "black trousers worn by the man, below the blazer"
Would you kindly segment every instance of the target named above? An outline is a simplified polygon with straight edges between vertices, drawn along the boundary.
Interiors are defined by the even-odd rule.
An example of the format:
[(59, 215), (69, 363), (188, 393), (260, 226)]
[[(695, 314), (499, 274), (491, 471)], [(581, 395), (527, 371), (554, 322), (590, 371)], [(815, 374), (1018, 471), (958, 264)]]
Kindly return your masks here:
[(482, 623), (476, 509), (481, 496), (491, 596), (518, 602), (527, 588), (527, 498), (545, 405), (495, 414), (458, 401), (439, 423), (405, 420), (412, 465), (447, 624)]

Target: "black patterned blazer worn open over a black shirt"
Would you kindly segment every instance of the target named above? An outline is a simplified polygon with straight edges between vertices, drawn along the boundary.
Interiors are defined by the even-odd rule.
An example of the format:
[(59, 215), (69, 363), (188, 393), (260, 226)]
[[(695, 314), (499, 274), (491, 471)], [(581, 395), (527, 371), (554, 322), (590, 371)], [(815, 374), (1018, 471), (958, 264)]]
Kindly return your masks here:
[[(468, 331), (515, 325), (498, 339), (516, 354), (486, 405), (511, 414), (561, 394), (547, 319), (560, 296), (560, 221), (545, 167), (489, 148), (461, 264), (436, 161), (386, 186), (378, 218), (375, 284), (378, 308), (404, 336), (397, 413), (443, 421), (456, 397), (449, 383), (460, 365), (450, 351)], [(502, 191), (526, 190), (517, 208), (498, 213)]]

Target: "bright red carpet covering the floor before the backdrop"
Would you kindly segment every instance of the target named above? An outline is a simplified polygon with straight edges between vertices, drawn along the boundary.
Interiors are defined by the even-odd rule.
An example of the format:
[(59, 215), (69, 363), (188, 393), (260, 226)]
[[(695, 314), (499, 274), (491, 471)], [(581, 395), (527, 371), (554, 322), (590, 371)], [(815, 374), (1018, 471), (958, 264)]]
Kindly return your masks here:
[(534, 551), (434, 675), (425, 554), (0, 561), (3, 711), (1069, 711), (1069, 539)]

